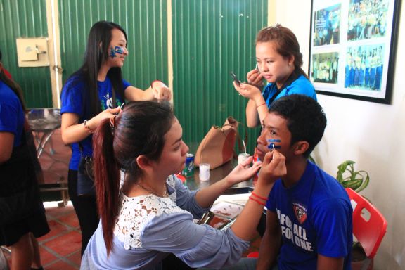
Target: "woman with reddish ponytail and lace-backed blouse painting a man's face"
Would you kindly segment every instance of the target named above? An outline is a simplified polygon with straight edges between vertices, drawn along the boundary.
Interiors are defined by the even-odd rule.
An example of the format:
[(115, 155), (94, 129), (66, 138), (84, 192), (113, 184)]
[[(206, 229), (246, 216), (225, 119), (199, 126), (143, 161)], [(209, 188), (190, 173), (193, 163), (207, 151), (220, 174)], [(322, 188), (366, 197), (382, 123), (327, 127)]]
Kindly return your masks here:
[[(251, 166), (250, 157), (224, 179), (189, 191), (176, 177), (188, 152), (182, 133), (172, 108), (151, 101), (128, 103), (113, 120), (98, 125), (94, 172), (101, 221), (81, 269), (162, 269), (168, 253), (191, 267), (219, 269), (238, 262), (248, 249), (264, 207), (260, 198), (285, 174), (283, 156), (274, 151)], [(229, 229), (195, 224), (219, 195), (250, 179), (261, 165), (250, 200)]]

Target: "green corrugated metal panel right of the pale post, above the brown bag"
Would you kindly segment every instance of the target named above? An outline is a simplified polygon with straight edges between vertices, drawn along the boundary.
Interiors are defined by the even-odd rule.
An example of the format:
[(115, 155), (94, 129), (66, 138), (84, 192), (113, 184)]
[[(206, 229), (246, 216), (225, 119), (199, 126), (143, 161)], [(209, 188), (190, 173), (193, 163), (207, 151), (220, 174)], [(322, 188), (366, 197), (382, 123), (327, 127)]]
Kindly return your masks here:
[[(232, 115), (245, 124), (247, 100), (229, 72), (245, 81), (255, 68), (255, 36), (267, 22), (266, 0), (172, 0), (174, 108), (195, 153), (210, 127)], [(243, 132), (243, 129), (240, 129)], [(249, 129), (252, 153), (258, 129)]]

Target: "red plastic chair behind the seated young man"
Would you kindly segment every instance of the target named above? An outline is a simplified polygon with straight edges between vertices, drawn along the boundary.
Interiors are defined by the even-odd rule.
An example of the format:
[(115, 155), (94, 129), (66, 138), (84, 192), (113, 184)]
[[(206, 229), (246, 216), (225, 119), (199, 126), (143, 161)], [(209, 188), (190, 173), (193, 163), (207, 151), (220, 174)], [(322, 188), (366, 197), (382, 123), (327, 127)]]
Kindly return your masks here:
[[(352, 203), (353, 234), (366, 253), (366, 259), (361, 269), (368, 269), (387, 232), (387, 220), (385, 220), (383, 214), (377, 208), (368, 202), (366, 198), (352, 190), (352, 188), (346, 188), (346, 191), (350, 200), (356, 203), (356, 205)], [(369, 213), (367, 213), (369, 217), (366, 216), (366, 211), (364, 210)]]

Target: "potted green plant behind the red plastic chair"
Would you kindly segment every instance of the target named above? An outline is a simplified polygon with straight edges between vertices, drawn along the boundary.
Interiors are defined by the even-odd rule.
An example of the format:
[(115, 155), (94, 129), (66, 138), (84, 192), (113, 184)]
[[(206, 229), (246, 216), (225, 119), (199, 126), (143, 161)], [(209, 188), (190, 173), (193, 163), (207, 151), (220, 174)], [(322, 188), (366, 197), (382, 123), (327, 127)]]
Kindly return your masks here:
[[(338, 174), (336, 179), (344, 188), (352, 188), (356, 192), (364, 190), (368, 186), (370, 176), (364, 170), (355, 171), (353, 160), (345, 160), (338, 165)], [(367, 199), (368, 200), (368, 199)], [(366, 259), (366, 253), (357, 241), (353, 242), (352, 247), (352, 269), (361, 269), (363, 260)], [(368, 266), (368, 269), (373, 269), (373, 262)]]

